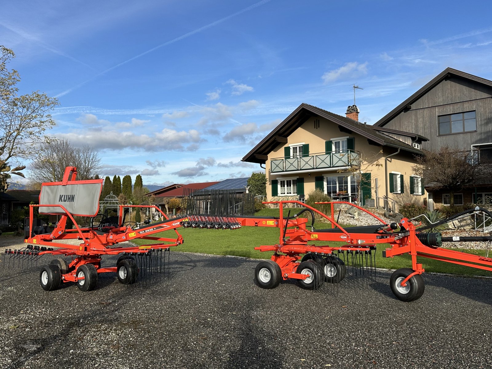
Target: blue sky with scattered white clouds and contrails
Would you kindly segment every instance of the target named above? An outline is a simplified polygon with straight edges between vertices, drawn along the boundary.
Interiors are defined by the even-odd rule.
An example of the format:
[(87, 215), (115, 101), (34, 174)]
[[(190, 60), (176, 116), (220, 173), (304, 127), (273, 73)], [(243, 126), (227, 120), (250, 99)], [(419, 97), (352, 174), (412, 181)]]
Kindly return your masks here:
[[(460, 8), (459, 10), (457, 10)], [(489, 1), (3, 1), (21, 93), (51, 135), (144, 184), (261, 170), (248, 153), (302, 102), (375, 123), (446, 67), (492, 79)], [(404, 129), (405, 127), (402, 127)]]

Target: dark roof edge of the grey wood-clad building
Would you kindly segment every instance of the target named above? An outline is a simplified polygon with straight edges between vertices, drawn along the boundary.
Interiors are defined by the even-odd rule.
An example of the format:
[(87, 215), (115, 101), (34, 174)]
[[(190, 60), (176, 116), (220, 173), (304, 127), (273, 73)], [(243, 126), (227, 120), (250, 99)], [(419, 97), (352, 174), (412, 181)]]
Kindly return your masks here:
[(381, 126), (385, 125), (386, 123), (391, 121), (393, 118), (395, 118), (398, 114), (400, 114), (403, 110), (408, 109), (407, 108), (408, 105), (413, 104), (415, 101), (417, 101), (423, 95), (425, 95), (427, 92), (429, 92), (431, 89), (433, 89), (442, 80), (449, 78), (451, 76), (461, 77), (464, 79), (468, 79), (470, 81), (474, 81), (474, 82), (481, 83), (483, 85), (492, 87), (492, 81), (490, 81), (488, 79), (477, 77), (477, 76), (474, 76), (473, 74), (465, 73), (465, 72), (462, 72), (461, 70), (448, 67), (448, 68), (444, 69), (441, 73), (439, 73), (437, 76), (435, 76), (431, 81), (429, 81), (429, 83), (427, 83), (419, 91), (415, 92), (413, 95), (411, 95), (405, 101), (403, 101), (400, 105), (398, 105), (395, 109), (393, 109), (391, 112), (386, 114), (383, 118), (381, 118), (379, 121), (374, 123), (374, 126), (381, 127)]

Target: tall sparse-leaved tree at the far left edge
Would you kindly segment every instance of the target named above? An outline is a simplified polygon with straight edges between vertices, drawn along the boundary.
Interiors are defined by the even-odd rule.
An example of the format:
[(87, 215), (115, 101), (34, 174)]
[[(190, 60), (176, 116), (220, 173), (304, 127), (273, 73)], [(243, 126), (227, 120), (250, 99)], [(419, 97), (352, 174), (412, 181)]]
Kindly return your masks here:
[[(18, 96), (16, 87), (20, 82), (19, 73), (7, 68), (15, 58), (12, 50), (0, 45), (0, 190), (7, 189), (11, 174), (24, 177), (19, 165), (21, 160), (35, 157), (39, 143), (49, 143), (50, 137), (44, 131), (55, 125), (49, 112), (58, 105), (58, 100), (45, 93), (31, 92)], [(16, 168), (11, 169), (13, 162)]]

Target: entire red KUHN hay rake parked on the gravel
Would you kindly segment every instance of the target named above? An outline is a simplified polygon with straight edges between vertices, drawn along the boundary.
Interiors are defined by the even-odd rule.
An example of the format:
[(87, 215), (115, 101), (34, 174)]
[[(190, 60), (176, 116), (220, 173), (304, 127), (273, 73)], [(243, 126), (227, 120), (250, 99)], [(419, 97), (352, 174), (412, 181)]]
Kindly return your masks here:
[[(41, 267), (40, 284), (48, 291), (57, 289), (64, 282), (75, 282), (80, 290), (91, 291), (95, 288), (100, 273), (116, 273), (118, 280), (123, 284), (152, 280), (155, 275), (166, 271), (166, 258), (169, 262), (170, 247), (183, 244), (183, 237), (177, 231), (179, 227), (216, 230), (235, 230), (241, 226), (278, 228), (278, 244), (255, 247), (260, 251), (274, 251), (271, 260), (261, 261), (255, 268), (256, 283), (266, 289), (275, 288), (282, 280), (288, 279), (296, 280), (300, 287), (308, 290), (326, 290), (327, 286), (328, 289), (334, 290), (338, 284), (367, 286), (375, 274), (374, 252), (378, 244), (386, 244), (383, 257), (411, 255), (412, 269), (399, 269), (390, 278), (391, 289), (401, 301), (417, 300), (424, 293), (424, 281), (421, 277), (424, 269), (422, 264), (417, 262), (417, 256), (492, 271), (492, 258), (444, 249), (441, 247), (442, 241), (454, 240), (442, 238), (440, 233), (423, 233), (428, 227), (419, 227), (406, 218), (401, 219), (399, 223), (386, 224), (366, 209), (347, 202), (329, 203), (331, 216), (299, 201), (269, 202), (278, 204), (278, 217), (240, 216), (236, 215), (238, 204), (241, 205), (240, 200), (231, 200), (224, 191), (215, 196), (215, 203), (204, 194), (191, 193), (184, 199), (191, 214), (169, 219), (155, 206), (120, 206), (119, 217), (103, 217), (99, 225), (81, 227), (75, 221), (74, 215), (95, 216), (98, 213), (102, 180), (76, 181), (76, 173), (75, 167), (67, 167), (62, 182), (42, 185), (40, 205), (30, 206), (30, 222), (25, 239), (28, 245), (21, 250), (7, 249), (4, 255), (3, 266), (7, 268), (33, 266), (46, 254), (71, 256), (71, 262), (67, 263), (59, 257)], [(215, 205), (211, 208), (210, 203)], [(208, 204), (207, 209), (204, 204)], [(294, 204), (302, 209), (293, 216), (290, 216), (290, 210), (285, 215), (284, 206)], [(336, 204), (355, 206), (360, 211), (372, 215), (379, 224), (343, 228), (334, 220)], [(242, 206), (243, 211), (249, 211), (244, 204)], [(36, 207), (42, 214), (61, 215), (51, 232), (34, 232), (33, 209)], [(132, 226), (125, 222), (125, 209), (132, 207), (153, 208), (160, 213), (163, 220)], [(486, 209), (477, 208), (447, 218), (434, 226), (479, 212), (492, 217), (492, 213)], [(331, 228), (314, 229), (315, 213), (324, 217), (331, 224)], [(311, 218), (309, 226), (308, 219), (300, 217), (303, 214)], [(67, 229), (68, 219), (74, 224), (73, 229)], [(167, 230), (174, 231), (176, 236), (152, 236)], [(134, 239), (145, 239), (152, 243), (142, 246), (118, 245)], [(72, 245), (53, 242), (64, 240), (79, 240), (79, 243)], [(314, 241), (332, 244), (318, 246), (312, 243)], [(461, 238), (461, 241), (476, 239)], [(486, 236), (480, 238), (480, 241), (491, 242), (492, 238)], [(334, 242), (337, 244), (333, 244)], [(118, 255), (116, 266), (102, 266), (101, 260), (105, 255)], [(8, 257), (5, 259), (6, 256)]]

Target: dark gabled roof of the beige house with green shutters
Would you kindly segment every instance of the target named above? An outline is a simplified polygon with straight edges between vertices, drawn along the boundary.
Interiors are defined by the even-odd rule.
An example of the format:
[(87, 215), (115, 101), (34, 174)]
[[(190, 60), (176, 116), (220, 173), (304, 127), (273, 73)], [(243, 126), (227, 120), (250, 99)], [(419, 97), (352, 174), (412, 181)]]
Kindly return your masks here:
[[(327, 110), (323, 110), (303, 102), (296, 110), (285, 118), (282, 123), (278, 124), (272, 132), (261, 140), (258, 145), (247, 153), (246, 156), (243, 157), (242, 161), (264, 164), (267, 160), (267, 155), (270, 154), (270, 152), (272, 152), (279, 143), (287, 142), (286, 139), (290, 134), (292, 134), (292, 132), (305, 123), (307, 119), (314, 116), (325, 118), (335, 124), (338, 124), (338, 126), (348, 129), (354, 133), (358, 133), (381, 146), (390, 146), (411, 153), (422, 154), (422, 151), (415, 149), (412, 146), (397, 140), (396, 138), (388, 136), (383, 132), (373, 129), (371, 125), (359, 123), (353, 119), (342, 117), (341, 115), (334, 114)], [(406, 133), (408, 136), (416, 136), (414, 133), (402, 133)], [(422, 138), (424, 139), (425, 137)]]

